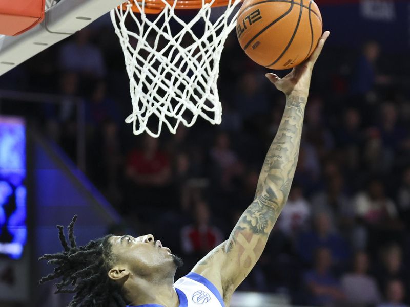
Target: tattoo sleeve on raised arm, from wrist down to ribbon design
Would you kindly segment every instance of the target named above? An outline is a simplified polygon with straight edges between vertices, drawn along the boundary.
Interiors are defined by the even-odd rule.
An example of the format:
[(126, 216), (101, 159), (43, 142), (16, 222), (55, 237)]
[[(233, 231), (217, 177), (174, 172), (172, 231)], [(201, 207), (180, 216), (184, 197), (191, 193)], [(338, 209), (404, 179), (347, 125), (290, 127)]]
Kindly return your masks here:
[(288, 198), (302, 135), (306, 97), (289, 96), (283, 117), (263, 163), (253, 203), (242, 214), (223, 252), (235, 249), (239, 266), (251, 269)]

